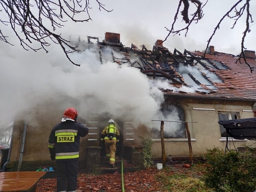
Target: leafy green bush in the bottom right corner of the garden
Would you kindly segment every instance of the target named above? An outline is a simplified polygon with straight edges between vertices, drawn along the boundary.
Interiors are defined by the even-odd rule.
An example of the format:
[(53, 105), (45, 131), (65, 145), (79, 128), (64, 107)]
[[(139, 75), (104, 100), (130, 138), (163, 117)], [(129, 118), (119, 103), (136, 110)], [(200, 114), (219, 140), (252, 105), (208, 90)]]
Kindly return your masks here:
[(256, 153), (250, 147), (244, 152), (224, 152), (218, 147), (207, 149), (205, 185), (218, 191), (254, 191), (256, 189)]

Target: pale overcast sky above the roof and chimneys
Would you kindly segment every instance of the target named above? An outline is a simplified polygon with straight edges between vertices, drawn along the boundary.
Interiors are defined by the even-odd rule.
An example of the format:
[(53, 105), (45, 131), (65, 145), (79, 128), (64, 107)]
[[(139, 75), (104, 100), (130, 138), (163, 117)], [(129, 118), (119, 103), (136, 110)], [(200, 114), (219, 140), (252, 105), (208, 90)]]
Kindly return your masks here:
[[(105, 0), (106, 9), (113, 9), (112, 12), (99, 11), (97, 5), (91, 2), (93, 9), (90, 10), (90, 16), (93, 19), (88, 23), (71, 24), (65, 27), (67, 34), (99, 36), (104, 39), (104, 33), (115, 32), (120, 33), (121, 42), (130, 47), (131, 43), (136, 45), (150, 45), (157, 39), (165, 39), (168, 32), (165, 27), (170, 28), (177, 9), (178, 0), (158, 0), (158, 1), (142, 1), (142, 0)], [(201, 2), (205, 2), (202, 0)], [(169, 36), (165, 42), (165, 46), (173, 52), (174, 47), (187, 50), (204, 50), (207, 41), (210, 38), (219, 19), (231, 8), (234, 0), (209, 0), (204, 7), (204, 17), (198, 24), (193, 23), (189, 28), (187, 36), (185, 32), (181, 35)], [(256, 2), (250, 2), (251, 14), (256, 16)], [(190, 3), (191, 6), (193, 6)], [(253, 18), (255, 19), (255, 18)], [(234, 29), (232, 27), (234, 20), (226, 18), (221, 24), (221, 28), (217, 30), (210, 45), (215, 47), (216, 51), (231, 54), (239, 54), (241, 50), (242, 33), (245, 29), (245, 17), (242, 17)], [(250, 23), (253, 25), (254, 23)], [(174, 29), (184, 27), (182, 16), (178, 16)], [(248, 50), (255, 50), (254, 35), (256, 34), (256, 25), (251, 26), (251, 32), (247, 34), (245, 39), (245, 47)], [(63, 32), (63, 31), (62, 31)], [(75, 36), (74, 36), (75, 37)], [(82, 36), (81, 36), (82, 38)]]

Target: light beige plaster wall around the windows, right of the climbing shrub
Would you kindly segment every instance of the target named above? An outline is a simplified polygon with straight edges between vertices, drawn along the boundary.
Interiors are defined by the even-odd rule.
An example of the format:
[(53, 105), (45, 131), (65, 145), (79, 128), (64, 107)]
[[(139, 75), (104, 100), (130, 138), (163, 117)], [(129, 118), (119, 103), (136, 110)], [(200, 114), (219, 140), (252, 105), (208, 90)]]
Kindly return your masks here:
[[(185, 101), (180, 101), (180, 103), (184, 108), (185, 121), (195, 122), (188, 123), (193, 156), (200, 156), (206, 153), (207, 149), (213, 147), (220, 147), (225, 150), (226, 139), (221, 138), (221, 131), (218, 124), (218, 112), (239, 112), (241, 119), (255, 117), (254, 112), (244, 111), (252, 111), (252, 105), (250, 103), (218, 102), (215, 104), (213, 102), (213, 104), (207, 104), (207, 102), (205, 102), (205, 104), (200, 104), (185, 103)], [(256, 147), (255, 141), (233, 139), (233, 142), (231, 140), (231, 142), (228, 143), (228, 148), (236, 149), (237, 147), (244, 147), (248, 144)], [(161, 157), (160, 139), (154, 139), (152, 150), (154, 157)], [(189, 156), (187, 139), (165, 139), (165, 152), (166, 156)]]

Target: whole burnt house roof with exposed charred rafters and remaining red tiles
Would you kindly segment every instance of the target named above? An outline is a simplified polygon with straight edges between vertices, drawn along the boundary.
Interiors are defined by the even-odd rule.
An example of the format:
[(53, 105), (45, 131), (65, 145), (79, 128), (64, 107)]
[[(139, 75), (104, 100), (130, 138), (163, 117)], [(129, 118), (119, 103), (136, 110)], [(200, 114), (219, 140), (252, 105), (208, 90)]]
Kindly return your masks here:
[[(222, 98), (256, 100), (256, 73), (239, 56), (220, 53), (209, 47), (204, 52), (184, 50), (183, 53), (174, 49), (171, 53), (157, 40), (153, 50), (144, 45), (125, 47), (120, 42), (119, 33), (105, 33), (105, 39), (99, 42), (97, 37), (87, 36), (90, 40), (97, 39), (99, 59), (102, 62), (101, 49), (111, 47), (113, 62), (129, 64), (139, 68), (150, 79), (168, 82), (169, 87), (162, 87), (165, 95), (188, 97)], [(247, 63), (256, 67), (255, 51), (245, 50)]]

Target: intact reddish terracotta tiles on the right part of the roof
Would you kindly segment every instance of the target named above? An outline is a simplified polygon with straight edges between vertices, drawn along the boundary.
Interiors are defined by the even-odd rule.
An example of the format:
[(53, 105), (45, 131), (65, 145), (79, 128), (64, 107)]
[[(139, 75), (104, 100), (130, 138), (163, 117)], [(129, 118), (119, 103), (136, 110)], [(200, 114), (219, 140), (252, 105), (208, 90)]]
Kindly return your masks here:
[[(196, 58), (200, 58), (203, 52), (195, 51), (192, 53)], [(256, 72), (252, 72), (249, 66), (239, 57), (216, 52), (214, 54), (206, 54), (206, 59), (214, 60), (223, 63), (228, 69), (209, 69), (223, 80), (223, 83), (213, 82), (216, 87), (215, 91), (205, 93), (204, 97), (228, 98), (228, 99), (250, 99), (256, 100)], [(246, 59), (250, 66), (256, 67), (256, 60), (253, 58)], [(201, 85), (205, 90), (207, 87)], [(180, 94), (181, 92), (172, 92), (170, 94)], [(185, 93), (183, 93), (185, 95)], [(200, 96), (202, 93), (196, 91), (195, 93), (186, 93), (190, 96)]]

